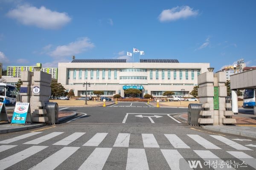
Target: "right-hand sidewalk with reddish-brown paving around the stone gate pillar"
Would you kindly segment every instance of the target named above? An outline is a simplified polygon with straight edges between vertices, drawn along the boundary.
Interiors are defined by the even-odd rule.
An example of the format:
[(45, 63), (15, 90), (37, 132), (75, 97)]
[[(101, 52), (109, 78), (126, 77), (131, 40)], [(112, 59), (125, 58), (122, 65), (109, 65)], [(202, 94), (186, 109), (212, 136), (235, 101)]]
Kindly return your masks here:
[[(188, 114), (185, 113), (179, 115), (178, 118), (187, 122)], [(205, 125), (201, 127), (206, 130), (212, 130), (216, 132), (228, 133), (232, 135), (239, 135), (256, 139), (256, 115), (253, 115), (251, 113), (238, 113), (237, 115), (234, 115), (233, 118), (236, 119), (235, 125)]]

